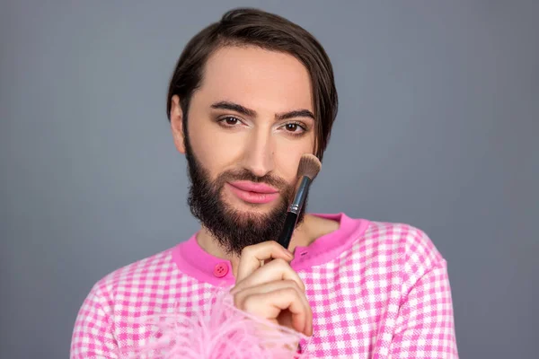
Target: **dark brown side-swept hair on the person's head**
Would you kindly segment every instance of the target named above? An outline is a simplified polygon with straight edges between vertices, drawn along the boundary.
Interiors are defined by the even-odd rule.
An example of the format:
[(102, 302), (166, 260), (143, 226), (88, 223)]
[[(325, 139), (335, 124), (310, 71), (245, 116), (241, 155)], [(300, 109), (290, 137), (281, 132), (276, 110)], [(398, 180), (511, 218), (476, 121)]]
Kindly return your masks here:
[(190, 39), (178, 59), (169, 85), (166, 105), (169, 120), (172, 96), (178, 95), (183, 128), (187, 132), (190, 98), (202, 82), (204, 66), (216, 49), (225, 46), (257, 46), (287, 53), (304, 64), (313, 88), (316, 155), (322, 161), (338, 109), (331, 61), (313, 35), (273, 13), (250, 8), (234, 9)]

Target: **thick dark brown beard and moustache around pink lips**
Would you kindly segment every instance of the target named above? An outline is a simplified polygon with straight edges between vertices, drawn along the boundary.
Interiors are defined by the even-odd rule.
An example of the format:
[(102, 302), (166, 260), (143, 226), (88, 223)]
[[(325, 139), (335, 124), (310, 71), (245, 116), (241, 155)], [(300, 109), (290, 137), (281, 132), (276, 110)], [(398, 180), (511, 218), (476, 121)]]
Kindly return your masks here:
[[(284, 180), (271, 175), (257, 177), (245, 169), (225, 171), (212, 181), (208, 171), (195, 158), (187, 134), (184, 140), (190, 175), (190, 212), (199, 219), (226, 254), (239, 256), (246, 246), (263, 241), (277, 241), (287, 218), (288, 204), (294, 199), (296, 184), (290, 186)], [(278, 206), (268, 214), (231, 208), (223, 200), (222, 190), (225, 183), (232, 180), (251, 180), (278, 188), (281, 195)], [(302, 223), (305, 217), (305, 207), (306, 199), (296, 226)]]

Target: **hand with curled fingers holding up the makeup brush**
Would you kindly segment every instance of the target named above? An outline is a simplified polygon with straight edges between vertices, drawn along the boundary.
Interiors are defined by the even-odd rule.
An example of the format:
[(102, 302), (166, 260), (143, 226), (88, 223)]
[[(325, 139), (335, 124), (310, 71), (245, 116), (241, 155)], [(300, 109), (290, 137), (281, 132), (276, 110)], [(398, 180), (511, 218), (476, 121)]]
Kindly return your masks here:
[[(230, 291), (234, 305), (265, 320), (313, 335), (313, 311), (305, 285), (289, 262), (294, 258), (276, 241), (245, 247), (236, 285)], [(269, 263), (262, 265), (265, 261)]]

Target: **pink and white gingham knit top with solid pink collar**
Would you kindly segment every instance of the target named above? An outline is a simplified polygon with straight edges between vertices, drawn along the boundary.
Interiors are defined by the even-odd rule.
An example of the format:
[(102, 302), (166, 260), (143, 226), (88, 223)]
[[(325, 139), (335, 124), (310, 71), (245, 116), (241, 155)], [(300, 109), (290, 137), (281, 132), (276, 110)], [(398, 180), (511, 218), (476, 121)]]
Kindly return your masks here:
[[(446, 260), (429, 237), (402, 223), (319, 215), (340, 228), (296, 248), (291, 266), (313, 309), (305, 351), (321, 358), (457, 358)], [(204, 311), (216, 285), (234, 285), (230, 262), (195, 235), (122, 267), (93, 286), (78, 313), (71, 358), (117, 358), (151, 335), (141, 316)]]

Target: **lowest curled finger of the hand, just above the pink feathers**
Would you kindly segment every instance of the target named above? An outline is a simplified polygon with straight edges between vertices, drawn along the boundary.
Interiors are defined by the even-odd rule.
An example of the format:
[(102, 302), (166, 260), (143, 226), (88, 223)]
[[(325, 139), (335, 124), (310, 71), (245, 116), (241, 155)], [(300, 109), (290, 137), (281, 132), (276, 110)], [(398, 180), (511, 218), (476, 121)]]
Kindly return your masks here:
[(292, 328), (307, 336), (311, 335), (311, 325), (307, 322), (310, 318), (310, 307), (305, 306), (296, 288), (251, 294), (243, 300), (243, 305), (239, 308), (257, 317), (273, 321), (281, 311), (288, 310), (292, 314)]

